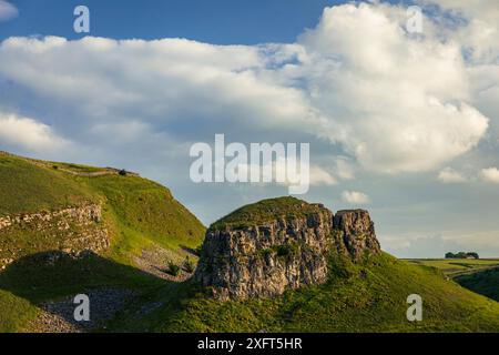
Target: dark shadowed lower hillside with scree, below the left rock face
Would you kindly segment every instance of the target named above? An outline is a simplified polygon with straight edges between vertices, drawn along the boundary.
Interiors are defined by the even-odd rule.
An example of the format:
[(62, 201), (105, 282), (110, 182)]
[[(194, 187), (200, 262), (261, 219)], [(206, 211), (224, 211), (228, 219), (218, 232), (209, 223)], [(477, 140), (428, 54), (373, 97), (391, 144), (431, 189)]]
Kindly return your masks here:
[[(129, 305), (146, 303), (151, 294), (174, 284), (91, 252), (79, 257), (59, 251), (33, 254), (0, 273), (0, 290), (42, 310), (34, 325), (28, 326), (27, 331), (34, 332), (105, 329)], [(90, 322), (74, 321), (78, 294), (89, 296)], [(11, 300), (10, 311), (21, 313), (16, 310), (18, 304)]]

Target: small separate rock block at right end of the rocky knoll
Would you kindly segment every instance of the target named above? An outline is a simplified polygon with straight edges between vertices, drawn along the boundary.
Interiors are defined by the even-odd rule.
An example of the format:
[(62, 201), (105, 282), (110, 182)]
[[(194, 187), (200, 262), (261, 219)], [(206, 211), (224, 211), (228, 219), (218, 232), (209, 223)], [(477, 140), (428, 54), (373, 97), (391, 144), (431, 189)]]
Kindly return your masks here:
[(343, 232), (343, 243), (354, 258), (359, 258), (365, 251), (379, 253), (374, 223), (365, 210), (338, 211), (333, 227)]

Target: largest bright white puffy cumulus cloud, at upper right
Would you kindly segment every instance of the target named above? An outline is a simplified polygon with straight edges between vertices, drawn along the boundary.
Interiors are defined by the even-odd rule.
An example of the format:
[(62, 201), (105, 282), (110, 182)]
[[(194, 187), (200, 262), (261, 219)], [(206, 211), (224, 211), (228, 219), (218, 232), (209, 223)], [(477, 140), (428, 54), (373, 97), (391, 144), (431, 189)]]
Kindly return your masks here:
[(317, 133), (343, 143), (365, 168), (388, 173), (439, 166), (476, 146), (488, 128), (469, 103), (460, 47), (411, 38), (406, 18), (393, 17), (403, 10), (329, 8), (301, 38), (309, 63), (302, 74), (326, 116)]

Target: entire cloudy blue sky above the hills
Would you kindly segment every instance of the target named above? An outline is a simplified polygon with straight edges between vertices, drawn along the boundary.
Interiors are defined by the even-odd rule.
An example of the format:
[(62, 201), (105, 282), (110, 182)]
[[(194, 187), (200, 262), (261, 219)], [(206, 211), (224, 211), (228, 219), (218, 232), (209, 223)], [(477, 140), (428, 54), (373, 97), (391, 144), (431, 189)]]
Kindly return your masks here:
[(495, 1), (415, 0), (413, 34), (398, 1), (0, 0), (0, 150), (138, 171), (210, 224), (287, 187), (195, 184), (192, 144), (307, 142), (302, 197), (388, 252), (499, 256)]

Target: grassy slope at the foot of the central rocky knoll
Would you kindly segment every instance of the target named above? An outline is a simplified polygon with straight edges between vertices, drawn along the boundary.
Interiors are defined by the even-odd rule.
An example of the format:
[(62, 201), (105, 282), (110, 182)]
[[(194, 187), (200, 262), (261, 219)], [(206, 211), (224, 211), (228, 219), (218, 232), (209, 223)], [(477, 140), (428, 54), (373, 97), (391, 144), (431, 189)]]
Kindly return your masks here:
[[(429, 267), (387, 254), (367, 265), (332, 261), (330, 280), (272, 300), (218, 303), (191, 285), (162, 310), (122, 329), (155, 332), (499, 332), (499, 303)], [(424, 321), (406, 318), (409, 294), (424, 301)]]

